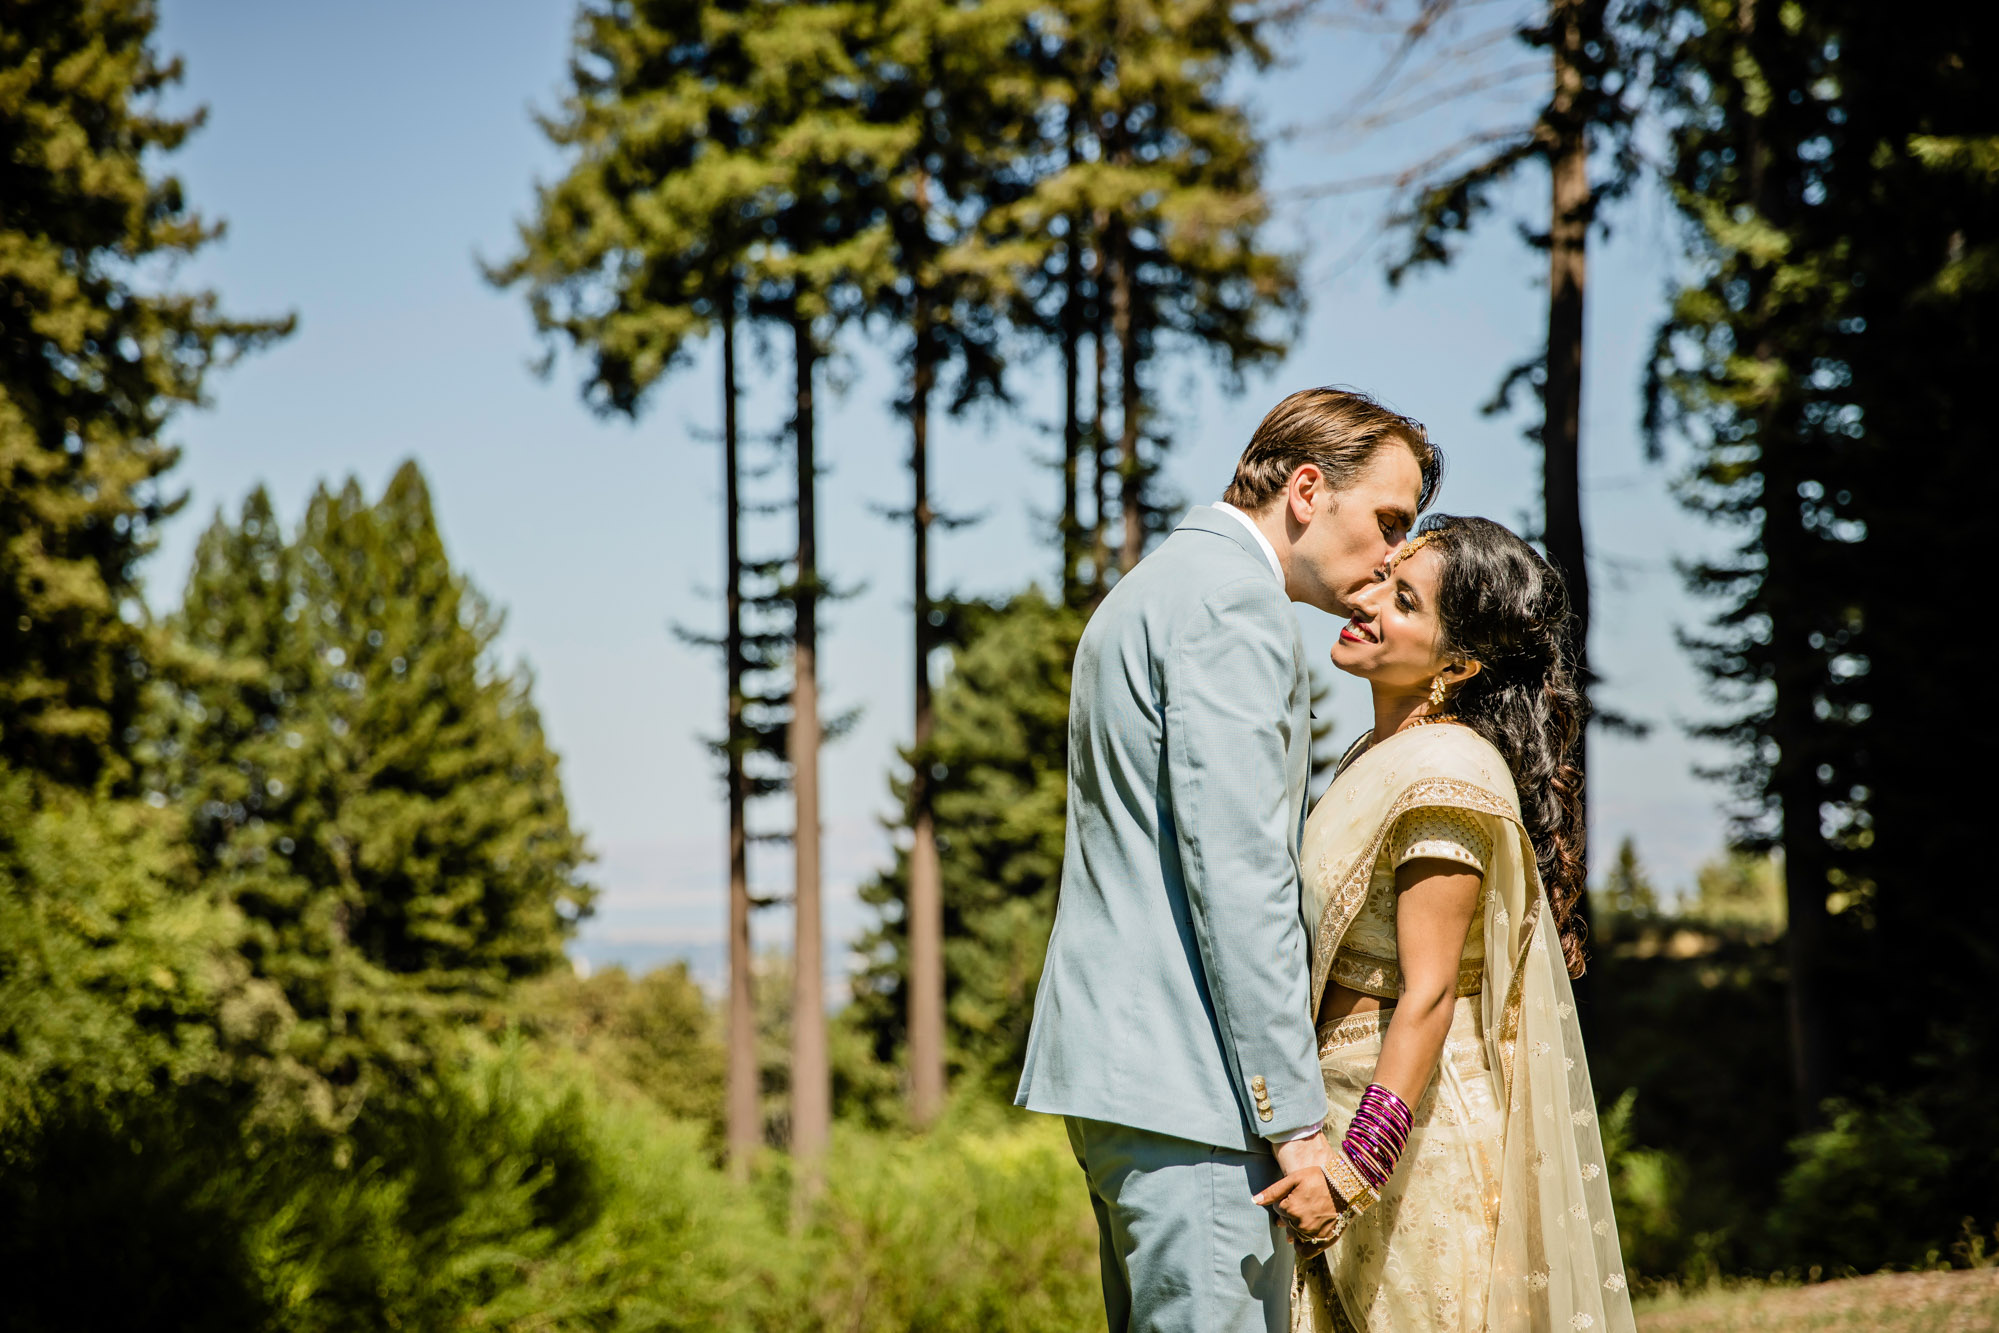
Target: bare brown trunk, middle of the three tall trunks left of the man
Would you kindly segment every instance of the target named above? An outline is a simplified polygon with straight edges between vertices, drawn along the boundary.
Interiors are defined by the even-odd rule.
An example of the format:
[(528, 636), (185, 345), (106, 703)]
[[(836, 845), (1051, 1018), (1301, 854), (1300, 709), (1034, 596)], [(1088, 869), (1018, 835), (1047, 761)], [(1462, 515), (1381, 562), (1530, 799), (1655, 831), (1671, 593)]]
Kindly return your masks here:
[(818, 466), (812, 438), (812, 378), (818, 346), (812, 320), (792, 320), (798, 374), (798, 588), (792, 654), (792, 795), (796, 797), (796, 879), (792, 905), (798, 915), (792, 943), (792, 1153), (800, 1161), (806, 1193), (816, 1191), (820, 1161), (832, 1135), (832, 1067), (826, 1049), (826, 943), (820, 919), (820, 552), (814, 500)]

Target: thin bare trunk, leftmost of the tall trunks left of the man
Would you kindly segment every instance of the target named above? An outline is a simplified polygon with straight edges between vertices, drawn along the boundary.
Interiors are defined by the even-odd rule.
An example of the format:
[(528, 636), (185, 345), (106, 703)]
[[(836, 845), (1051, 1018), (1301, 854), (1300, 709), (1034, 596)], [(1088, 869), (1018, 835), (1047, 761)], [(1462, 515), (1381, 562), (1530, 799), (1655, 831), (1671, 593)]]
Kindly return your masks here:
[(742, 492), (736, 452), (736, 294), (722, 306), (722, 508), (728, 628), (728, 755), (730, 755), (730, 1173), (750, 1177), (750, 1159), (764, 1137), (758, 1111), (756, 999), (750, 989), (750, 781), (744, 775), (744, 558)]

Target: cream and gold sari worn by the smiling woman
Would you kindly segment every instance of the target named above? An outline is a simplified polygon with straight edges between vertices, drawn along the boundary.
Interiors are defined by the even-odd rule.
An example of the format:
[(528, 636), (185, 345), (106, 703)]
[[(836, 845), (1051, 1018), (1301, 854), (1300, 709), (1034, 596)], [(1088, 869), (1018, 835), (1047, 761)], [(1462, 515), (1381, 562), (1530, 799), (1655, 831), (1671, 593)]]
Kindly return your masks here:
[[(1313, 1011), (1335, 963), (1343, 981), (1355, 967), (1341, 941), (1371, 885), (1379, 891), (1389, 831), (1425, 807), (1479, 815), (1497, 833), (1451, 1031), (1379, 1203), (1297, 1265), (1291, 1329), (1631, 1333), (1569, 973), (1505, 759), (1469, 727), (1355, 745), (1305, 821)], [(1361, 965), (1393, 977), (1391, 965)], [(1391, 1019), (1381, 1009), (1319, 1029), (1329, 1135), (1345, 1131), (1373, 1081)]]

